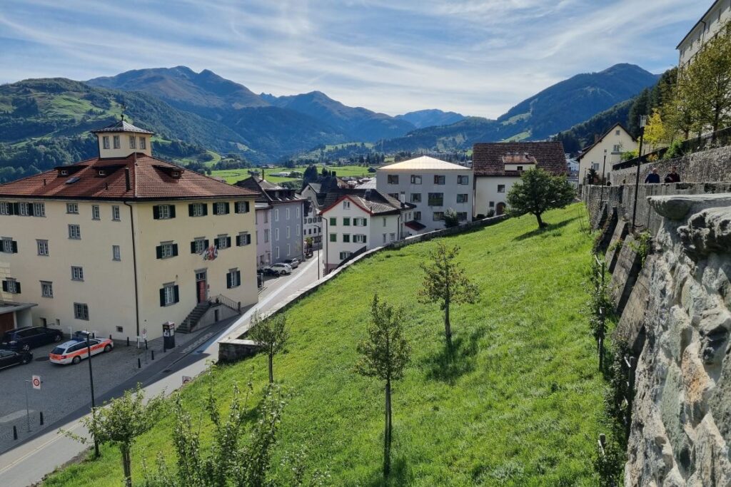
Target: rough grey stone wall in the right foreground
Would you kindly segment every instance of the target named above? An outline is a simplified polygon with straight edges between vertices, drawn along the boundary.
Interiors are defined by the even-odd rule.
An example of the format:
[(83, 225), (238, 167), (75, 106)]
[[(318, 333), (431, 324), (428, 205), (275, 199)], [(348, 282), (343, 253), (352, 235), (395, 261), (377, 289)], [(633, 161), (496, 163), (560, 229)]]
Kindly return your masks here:
[(618, 327), (644, 334), (624, 483), (731, 486), (731, 194), (651, 204), (655, 253)]

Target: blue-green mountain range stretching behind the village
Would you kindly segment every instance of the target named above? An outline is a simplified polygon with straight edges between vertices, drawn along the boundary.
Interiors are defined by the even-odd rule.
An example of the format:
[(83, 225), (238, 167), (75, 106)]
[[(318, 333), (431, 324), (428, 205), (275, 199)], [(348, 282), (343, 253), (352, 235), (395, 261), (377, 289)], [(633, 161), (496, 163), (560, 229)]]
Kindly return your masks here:
[[(186, 66), (137, 69), (86, 82), (24, 80), (0, 85), (0, 168), (38, 170), (84, 156), (94, 148), (88, 130), (110, 123), (122, 105), (134, 123), (164, 140), (191, 145), (183, 152), (240, 153), (264, 163), (344, 142), (382, 141), (384, 150), (393, 151), (544, 139), (635, 96), (656, 80), (655, 74), (630, 64), (577, 74), (496, 120), (442, 110), (392, 117), (348, 107), (320, 91), (257, 94), (208, 69), (196, 73)], [(175, 147), (179, 151), (183, 146)]]

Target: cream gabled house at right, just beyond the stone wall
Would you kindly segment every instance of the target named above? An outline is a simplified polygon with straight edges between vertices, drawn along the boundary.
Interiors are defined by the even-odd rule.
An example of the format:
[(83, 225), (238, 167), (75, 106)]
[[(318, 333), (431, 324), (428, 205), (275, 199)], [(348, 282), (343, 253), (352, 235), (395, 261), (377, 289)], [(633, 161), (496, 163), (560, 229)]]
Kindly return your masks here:
[[(634, 150), (636, 147), (635, 137), (632, 137), (621, 123), (616, 123), (606, 134), (596, 139), (594, 144), (583, 149), (577, 157), (580, 183), (586, 184), (589, 169), (594, 169), (599, 178), (602, 177), (602, 172), (606, 171), (607, 180), (615, 184), (611, 177), (612, 164), (621, 162), (622, 154), (628, 150)], [(606, 166), (604, 164), (605, 154), (607, 156)]]

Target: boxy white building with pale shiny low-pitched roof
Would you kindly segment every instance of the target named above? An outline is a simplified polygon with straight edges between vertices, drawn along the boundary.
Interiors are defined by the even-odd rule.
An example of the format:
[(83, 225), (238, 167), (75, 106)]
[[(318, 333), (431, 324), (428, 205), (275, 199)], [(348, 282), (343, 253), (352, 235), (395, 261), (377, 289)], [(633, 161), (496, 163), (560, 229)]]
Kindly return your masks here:
[(432, 231), (444, 228), (444, 212), (450, 209), (460, 221), (472, 220), (473, 178), (468, 167), (421, 156), (379, 168), (376, 188), (413, 204), (413, 220)]

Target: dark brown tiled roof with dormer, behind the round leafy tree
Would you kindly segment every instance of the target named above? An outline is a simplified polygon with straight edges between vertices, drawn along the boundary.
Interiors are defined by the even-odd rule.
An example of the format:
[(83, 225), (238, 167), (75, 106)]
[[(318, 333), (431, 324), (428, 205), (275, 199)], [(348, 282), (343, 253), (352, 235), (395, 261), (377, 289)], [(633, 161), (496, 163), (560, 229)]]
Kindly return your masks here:
[(520, 171), (505, 170), (505, 164), (518, 160), (556, 175), (568, 172), (561, 142), (491, 142), (475, 144), (472, 150), (475, 176), (520, 176)]

